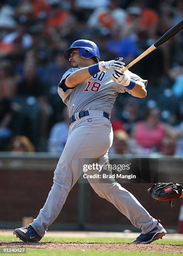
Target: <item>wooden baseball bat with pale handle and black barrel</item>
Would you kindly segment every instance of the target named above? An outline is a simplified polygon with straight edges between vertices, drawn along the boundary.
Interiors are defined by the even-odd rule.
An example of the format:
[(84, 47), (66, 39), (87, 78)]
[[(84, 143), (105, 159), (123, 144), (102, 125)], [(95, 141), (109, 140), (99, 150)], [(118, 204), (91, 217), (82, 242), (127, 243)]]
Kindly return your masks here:
[[(183, 29), (183, 19), (180, 20), (175, 26), (170, 28), (166, 33), (164, 33), (163, 36), (161, 36), (154, 44), (152, 44), (147, 50), (142, 52), (136, 59), (134, 59), (132, 62), (130, 62), (126, 67), (121, 69), (121, 72), (124, 72), (125, 70), (132, 67), (135, 63), (140, 61), (140, 59), (144, 58), (146, 55), (150, 54), (151, 51), (154, 51), (158, 46), (164, 44), (166, 41), (168, 41), (170, 38), (175, 36), (178, 32), (180, 32)], [(114, 81), (113, 77), (111, 77)]]

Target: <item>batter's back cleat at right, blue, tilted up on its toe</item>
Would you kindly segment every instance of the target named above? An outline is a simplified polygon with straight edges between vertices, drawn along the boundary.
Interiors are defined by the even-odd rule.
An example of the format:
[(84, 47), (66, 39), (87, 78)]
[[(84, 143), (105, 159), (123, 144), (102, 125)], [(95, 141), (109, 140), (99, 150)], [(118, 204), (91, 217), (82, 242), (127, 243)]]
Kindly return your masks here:
[(163, 236), (166, 235), (166, 230), (163, 228), (163, 226), (158, 223), (155, 228), (153, 228), (149, 233), (147, 234), (140, 234), (134, 241), (131, 243), (152, 243), (155, 240), (162, 239)]

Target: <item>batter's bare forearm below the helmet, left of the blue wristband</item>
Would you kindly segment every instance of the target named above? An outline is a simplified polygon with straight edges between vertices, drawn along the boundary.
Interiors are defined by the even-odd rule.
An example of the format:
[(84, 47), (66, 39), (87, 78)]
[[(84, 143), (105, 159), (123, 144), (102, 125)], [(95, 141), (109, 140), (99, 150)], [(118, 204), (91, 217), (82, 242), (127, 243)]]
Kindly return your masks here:
[(84, 67), (70, 74), (65, 80), (65, 85), (67, 87), (75, 87), (77, 84), (84, 82), (90, 77), (91, 74), (89, 74), (88, 67)]

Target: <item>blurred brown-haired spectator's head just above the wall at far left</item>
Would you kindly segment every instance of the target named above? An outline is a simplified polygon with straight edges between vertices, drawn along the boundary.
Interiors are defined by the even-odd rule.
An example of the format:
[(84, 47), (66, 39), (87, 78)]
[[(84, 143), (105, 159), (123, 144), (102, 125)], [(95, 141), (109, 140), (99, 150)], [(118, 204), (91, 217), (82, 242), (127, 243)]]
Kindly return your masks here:
[(34, 145), (26, 136), (15, 136), (10, 142), (10, 151), (22, 153), (22, 152), (34, 152)]

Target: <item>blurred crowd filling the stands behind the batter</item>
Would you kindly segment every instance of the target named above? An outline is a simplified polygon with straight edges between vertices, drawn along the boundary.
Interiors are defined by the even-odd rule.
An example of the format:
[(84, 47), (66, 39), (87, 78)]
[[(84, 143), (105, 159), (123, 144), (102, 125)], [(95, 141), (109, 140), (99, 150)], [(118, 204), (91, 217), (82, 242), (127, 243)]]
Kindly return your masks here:
[[(69, 126), (57, 94), (64, 50), (97, 43), (101, 60), (126, 64), (183, 18), (183, 0), (1, 0), (0, 151), (62, 152)], [(119, 94), (116, 154), (183, 154), (183, 33), (135, 64), (147, 97)]]

